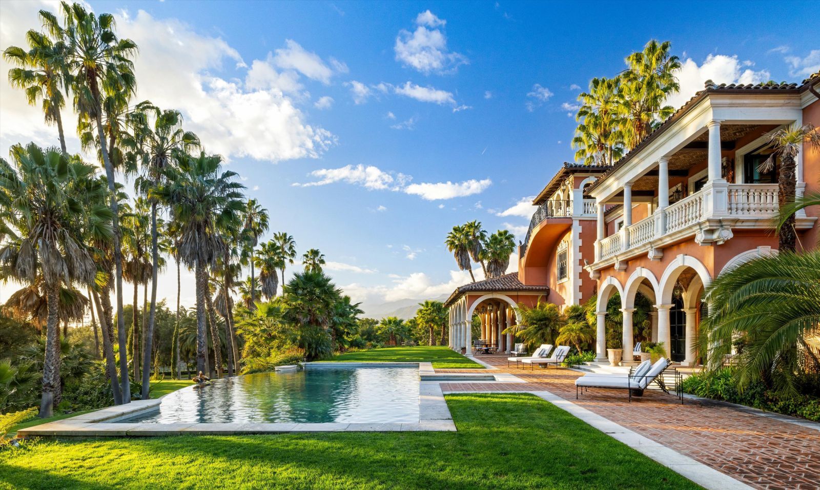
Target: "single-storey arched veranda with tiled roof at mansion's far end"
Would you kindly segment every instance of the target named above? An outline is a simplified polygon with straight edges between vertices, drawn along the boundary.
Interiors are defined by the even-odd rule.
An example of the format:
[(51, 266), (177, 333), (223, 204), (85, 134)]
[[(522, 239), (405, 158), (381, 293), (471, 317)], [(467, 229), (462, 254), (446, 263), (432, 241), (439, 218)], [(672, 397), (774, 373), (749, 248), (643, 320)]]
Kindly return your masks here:
[(546, 286), (522, 284), (517, 272), (457, 288), (444, 302), (449, 311), (449, 347), (472, 356), (478, 340), (488, 352), (510, 352), (512, 333), (503, 332), (521, 320), (517, 306), (535, 306), (548, 294)]

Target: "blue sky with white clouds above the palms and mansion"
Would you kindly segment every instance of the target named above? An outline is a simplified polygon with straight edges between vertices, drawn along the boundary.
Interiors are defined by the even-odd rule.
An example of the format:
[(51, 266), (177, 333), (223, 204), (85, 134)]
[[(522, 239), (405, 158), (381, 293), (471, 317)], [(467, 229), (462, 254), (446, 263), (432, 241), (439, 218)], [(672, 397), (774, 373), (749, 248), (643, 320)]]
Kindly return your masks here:
[[(773, 3), (90, 5), (139, 44), (139, 100), (180, 108), (270, 211), (271, 232), (293, 234), (300, 254), (319, 248), (337, 284), (372, 306), (464, 282), (443, 246), (453, 225), (481, 220), (523, 238), (531, 211), (516, 205), (572, 159), (577, 94), (649, 39), (672, 41), (684, 61), (673, 105), (706, 78), (818, 70), (816, 5), (773, 16)], [(52, 2), (0, 5), (2, 48), (23, 43), (42, 7)], [(56, 130), (0, 85), (2, 147), (52, 142)], [(160, 295), (175, 290), (161, 284)]]

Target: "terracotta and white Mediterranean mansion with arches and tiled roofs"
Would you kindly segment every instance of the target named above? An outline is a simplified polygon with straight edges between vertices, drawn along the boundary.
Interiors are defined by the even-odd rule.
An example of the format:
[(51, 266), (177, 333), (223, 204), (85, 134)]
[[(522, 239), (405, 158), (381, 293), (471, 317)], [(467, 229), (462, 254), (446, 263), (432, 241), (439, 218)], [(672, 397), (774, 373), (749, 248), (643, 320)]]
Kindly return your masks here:
[[(699, 364), (704, 288), (722, 270), (777, 253), (780, 162), (759, 168), (772, 154), (769, 136), (789, 125), (820, 127), (818, 92), (820, 74), (802, 84), (707, 82), (613, 166), (565, 163), (533, 201), (518, 272), (466, 284), (445, 302), (450, 347), (470, 356), (478, 335), (509, 352), (513, 339), (503, 330), (520, 320), (515, 306), (596, 297), (595, 351), (604, 361), (604, 325), (617, 294), (625, 363), (641, 340), (632, 327), (640, 301), (651, 317), (643, 339), (663, 342), (676, 363)], [(818, 191), (820, 151), (806, 146), (796, 161), (796, 193)], [(818, 206), (796, 215), (798, 251), (818, 243), (818, 215)]]

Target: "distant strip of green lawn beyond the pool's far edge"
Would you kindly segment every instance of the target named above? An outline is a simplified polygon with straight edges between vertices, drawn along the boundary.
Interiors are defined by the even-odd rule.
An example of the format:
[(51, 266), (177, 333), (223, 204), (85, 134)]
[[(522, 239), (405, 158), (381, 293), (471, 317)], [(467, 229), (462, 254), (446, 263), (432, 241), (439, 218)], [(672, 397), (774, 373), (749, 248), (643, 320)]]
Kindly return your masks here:
[(344, 362), (432, 362), (437, 369), (484, 369), (453, 349), (445, 346), (384, 347), (368, 351), (345, 352), (329, 361)]

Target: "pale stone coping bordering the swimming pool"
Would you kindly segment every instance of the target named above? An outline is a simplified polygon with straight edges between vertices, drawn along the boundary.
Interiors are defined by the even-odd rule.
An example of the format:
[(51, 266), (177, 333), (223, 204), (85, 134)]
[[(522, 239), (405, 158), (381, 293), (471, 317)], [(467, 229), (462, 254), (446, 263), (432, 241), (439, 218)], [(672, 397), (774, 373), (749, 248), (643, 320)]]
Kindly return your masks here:
[[(322, 362), (305, 363), (307, 369), (322, 369), (339, 367), (390, 367), (418, 365), (419, 375), (435, 374), (430, 362)], [(336, 365), (336, 366), (334, 366)], [(452, 382), (452, 381), (450, 381)], [(186, 387), (187, 388), (187, 387)], [(180, 388), (180, 389), (186, 389)], [(178, 390), (177, 390), (178, 391)], [(169, 393), (170, 394), (170, 393)], [(164, 396), (163, 396), (164, 397)], [(100, 437), (150, 437), (167, 435), (234, 435), (259, 433), (311, 433), (311, 432), (418, 432), (418, 431), (445, 431), (454, 432), (456, 426), (453, 416), (450, 415), (444, 393), (438, 382), (419, 381), (419, 421), (418, 423), (197, 423), (185, 422), (175, 424), (153, 423), (119, 423), (123, 420), (139, 415), (143, 412), (157, 410), (162, 403), (159, 397), (151, 400), (134, 400), (125, 405), (116, 405), (83, 415), (55, 420), (46, 424), (34, 425), (17, 431), (18, 438), (46, 437), (46, 438), (100, 438)]]

